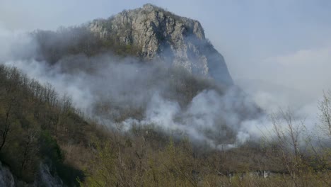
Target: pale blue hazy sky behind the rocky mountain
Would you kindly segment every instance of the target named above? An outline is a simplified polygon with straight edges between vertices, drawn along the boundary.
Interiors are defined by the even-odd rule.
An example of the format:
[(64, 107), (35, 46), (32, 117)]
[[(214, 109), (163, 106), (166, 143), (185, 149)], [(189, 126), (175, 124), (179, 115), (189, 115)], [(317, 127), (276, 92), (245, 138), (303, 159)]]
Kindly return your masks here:
[(328, 0), (0, 0), (0, 28), (55, 30), (146, 3), (200, 21), (235, 81), (265, 81), (314, 96), (331, 89)]

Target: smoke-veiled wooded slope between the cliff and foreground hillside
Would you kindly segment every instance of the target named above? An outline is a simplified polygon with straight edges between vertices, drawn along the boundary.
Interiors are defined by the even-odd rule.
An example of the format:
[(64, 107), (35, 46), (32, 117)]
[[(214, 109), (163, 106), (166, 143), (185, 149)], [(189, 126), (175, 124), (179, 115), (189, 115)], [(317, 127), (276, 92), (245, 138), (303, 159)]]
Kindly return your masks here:
[[(105, 52), (75, 54), (70, 46), (79, 47), (74, 41), (86, 35), (73, 31), (75, 38), (71, 41), (68, 32), (58, 32), (53, 34), (57, 38), (45, 38), (55, 51), (38, 53), (40, 47), (45, 52), (45, 33), (40, 31), (25, 35), (29, 38), (25, 46), (35, 46), (33, 52), (19, 49), (16, 59), (4, 64), (52, 84), (60, 94), (70, 96), (76, 107), (108, 127), (123, 123), (124, 130), (129, 130), (132, 125), (155, 125), (167, 133), (221, 147), (224, 142), (233, 146), (250, 139), (243, 124), (262, 115), (238, 88), (194, 76), (169, 62), (142, 62)], [(50, 60), (52, 54), (57, 55), (56, 62)]]

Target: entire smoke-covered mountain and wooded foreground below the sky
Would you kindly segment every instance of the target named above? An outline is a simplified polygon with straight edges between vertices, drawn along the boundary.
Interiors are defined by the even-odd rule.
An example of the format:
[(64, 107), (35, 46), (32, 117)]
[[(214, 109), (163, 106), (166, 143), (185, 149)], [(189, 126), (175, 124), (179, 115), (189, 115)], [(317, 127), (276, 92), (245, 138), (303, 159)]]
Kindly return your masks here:
[(0, 186), (331, 186), (331, 94), (313, 125), (263, 111), (199, 21), (146, 4), (23, 38), (0, 53)]

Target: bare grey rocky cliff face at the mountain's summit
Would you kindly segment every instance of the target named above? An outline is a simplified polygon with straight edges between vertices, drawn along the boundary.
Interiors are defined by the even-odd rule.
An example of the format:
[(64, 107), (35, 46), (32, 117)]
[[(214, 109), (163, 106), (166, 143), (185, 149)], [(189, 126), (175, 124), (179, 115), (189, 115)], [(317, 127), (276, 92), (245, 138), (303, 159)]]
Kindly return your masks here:
[(146, 4), (92, 21), (88, 28), (103, 40), (111, 38), (120, 45), (137, 47), (137, 55), (144, 60), (172, 62), (192, 74), (233, 84), (222, 55), (206, 40), (199, 21)]

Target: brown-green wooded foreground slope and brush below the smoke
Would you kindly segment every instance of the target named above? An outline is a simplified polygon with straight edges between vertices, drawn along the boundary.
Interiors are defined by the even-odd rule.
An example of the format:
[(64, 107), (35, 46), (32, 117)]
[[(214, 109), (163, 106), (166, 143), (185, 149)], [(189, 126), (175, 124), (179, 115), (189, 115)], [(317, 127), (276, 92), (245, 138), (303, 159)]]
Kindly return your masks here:
[[(68, 186), (330, 186), (330, 149), (307, 140), (290, 113), (274, 118), (274, 140), (229, 150), (192, 145), (158, 128), (122, 132), (84, 119), (50, 85), (0, 66), (1, 162), (32, 183), (40, 163)], [(321, 128), (330, 140), (330, 100), (320, 103)], [(285, 128), (279, 128), (282, 127)], [(258, 172), (272, 171), (262, 178)]]

